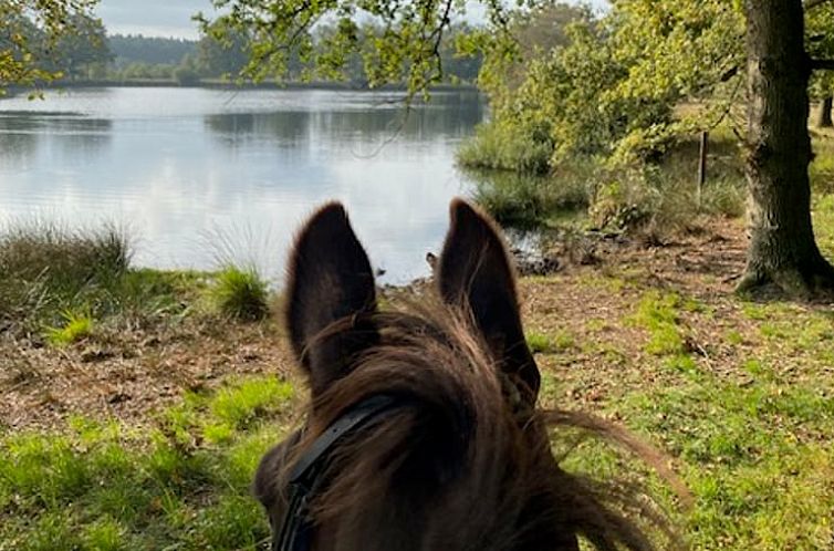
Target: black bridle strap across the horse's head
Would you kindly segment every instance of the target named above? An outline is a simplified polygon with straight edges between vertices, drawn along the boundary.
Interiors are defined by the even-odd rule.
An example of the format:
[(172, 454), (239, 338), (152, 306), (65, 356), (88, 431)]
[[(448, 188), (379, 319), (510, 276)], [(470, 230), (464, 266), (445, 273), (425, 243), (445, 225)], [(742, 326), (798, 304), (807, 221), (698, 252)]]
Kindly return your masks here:
[(310, 448), (290, 471), (289, 503), (281, 532), (272, 541), (273, 551), (309, 551), (311, 523), (307, 517), (310, 498), (321, 485), (321, 474), (327, 464), (333, 445), (342, 437), (390, 410), (397, 401), (388, 395), (366, 398), (342, 414)]

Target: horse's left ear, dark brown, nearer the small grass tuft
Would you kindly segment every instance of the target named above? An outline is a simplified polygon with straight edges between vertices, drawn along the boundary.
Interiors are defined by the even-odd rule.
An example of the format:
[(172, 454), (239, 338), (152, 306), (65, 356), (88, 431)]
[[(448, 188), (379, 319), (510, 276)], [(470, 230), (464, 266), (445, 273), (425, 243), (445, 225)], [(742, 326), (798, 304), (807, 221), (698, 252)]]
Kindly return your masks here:
[(378, 342), (372, 319), (376, 312), (374, 273), (337, 202), (310, 218), (290, 253), (289, 267), (286, 324), (315, 396), (347, 374), (357, 354)]

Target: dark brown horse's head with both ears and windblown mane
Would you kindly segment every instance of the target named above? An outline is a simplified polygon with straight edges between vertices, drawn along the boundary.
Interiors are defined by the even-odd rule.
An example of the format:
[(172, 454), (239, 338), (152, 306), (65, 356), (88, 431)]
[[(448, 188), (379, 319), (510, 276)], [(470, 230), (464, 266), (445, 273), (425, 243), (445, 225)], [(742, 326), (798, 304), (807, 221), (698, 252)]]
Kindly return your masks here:
[(435, 280), (435, 299), (379, 311), (343, 207), (302, 229), (286, 322), (312, 407), (256, 478), (273, 549), (648, 549), (556, 466), (507, 248), (465, 201)]

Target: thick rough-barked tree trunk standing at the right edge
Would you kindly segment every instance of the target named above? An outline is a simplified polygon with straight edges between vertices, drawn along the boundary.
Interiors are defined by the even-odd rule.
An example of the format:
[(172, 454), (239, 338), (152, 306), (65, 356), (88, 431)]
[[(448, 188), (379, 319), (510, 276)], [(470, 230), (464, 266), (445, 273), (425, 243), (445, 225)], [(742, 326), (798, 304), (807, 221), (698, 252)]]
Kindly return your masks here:
[(802, 0), (747, 0), (748, 266), (739, 290), (775, 283), (809, 298), (834, 288), (811, 223), (811, 137)]

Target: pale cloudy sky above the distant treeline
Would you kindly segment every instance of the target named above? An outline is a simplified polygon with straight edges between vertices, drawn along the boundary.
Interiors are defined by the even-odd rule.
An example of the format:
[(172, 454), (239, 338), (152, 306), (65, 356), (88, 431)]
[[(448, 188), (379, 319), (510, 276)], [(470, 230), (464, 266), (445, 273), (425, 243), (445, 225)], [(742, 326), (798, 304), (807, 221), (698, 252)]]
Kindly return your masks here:
[[(591, 0), (602, 7), (605, 0)], [(145, 34), (196, 39), (197, 25), (191, 17), (198, 11), (211, 13), (210, 0), (101, 0), (96, 10), (111, 34)], [(479, 10), (471, 10), (477, 18)]]

